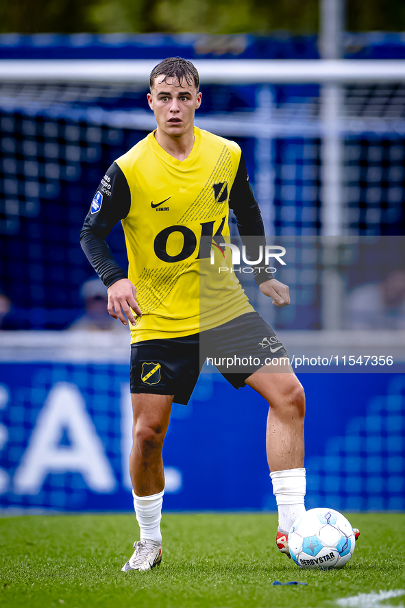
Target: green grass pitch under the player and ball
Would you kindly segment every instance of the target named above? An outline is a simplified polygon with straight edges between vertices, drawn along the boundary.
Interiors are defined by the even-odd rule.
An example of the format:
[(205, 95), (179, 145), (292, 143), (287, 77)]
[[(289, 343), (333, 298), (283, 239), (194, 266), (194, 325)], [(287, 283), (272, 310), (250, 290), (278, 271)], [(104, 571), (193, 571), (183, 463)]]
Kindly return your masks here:
[[(163, 561), (121, 572), (138, 539), (134, 515), (0, 519), (1, 608), (332, 608), (403, 606), (405, 515), (348, 515), (360, 528), (343, 570), (300, 570), (275, 547), (276, 515), (163, 516)], [(306, 586), (273, 586), (302, 581)]]

